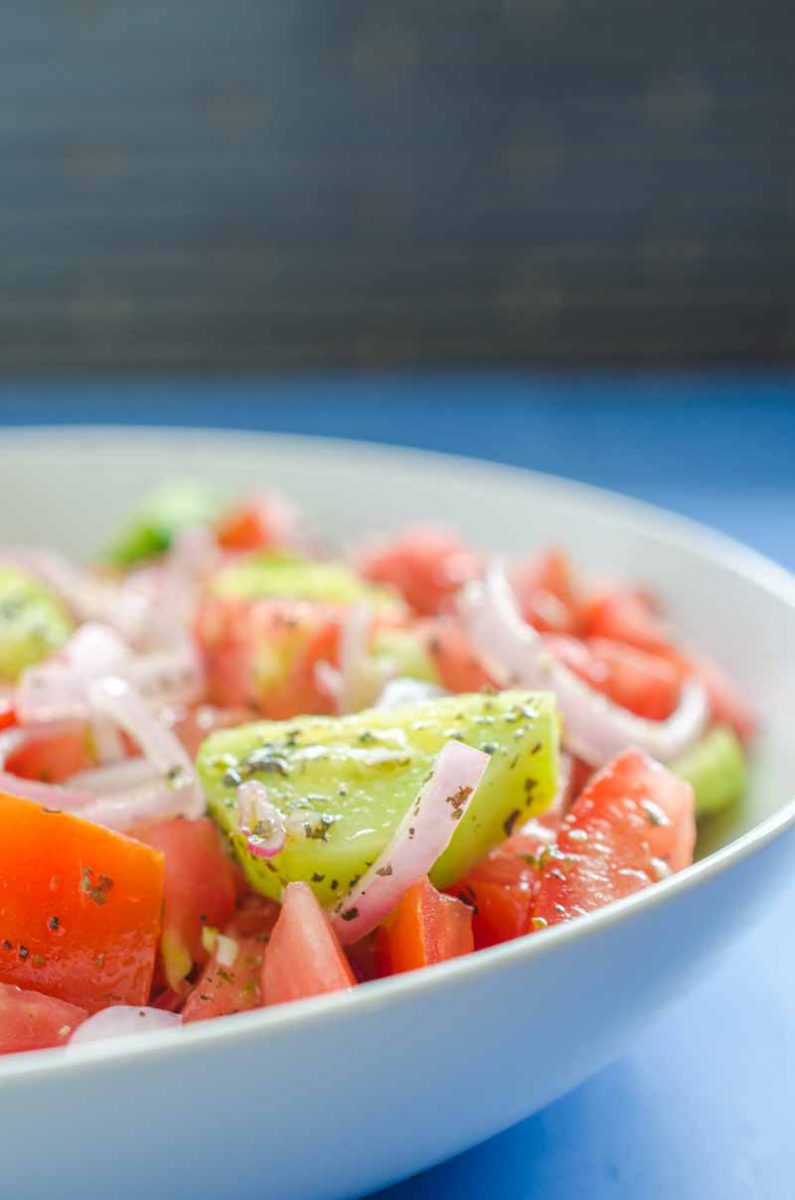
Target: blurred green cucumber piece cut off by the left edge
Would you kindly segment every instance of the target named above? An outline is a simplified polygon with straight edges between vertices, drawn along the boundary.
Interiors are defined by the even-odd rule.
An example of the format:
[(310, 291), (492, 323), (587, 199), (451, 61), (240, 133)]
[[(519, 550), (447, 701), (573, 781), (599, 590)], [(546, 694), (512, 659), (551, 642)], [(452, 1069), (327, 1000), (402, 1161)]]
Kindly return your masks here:
[(73, 629), (61, 601), (35, 575), (0, 566), (0, 679), (16, 680), (59, 650)]

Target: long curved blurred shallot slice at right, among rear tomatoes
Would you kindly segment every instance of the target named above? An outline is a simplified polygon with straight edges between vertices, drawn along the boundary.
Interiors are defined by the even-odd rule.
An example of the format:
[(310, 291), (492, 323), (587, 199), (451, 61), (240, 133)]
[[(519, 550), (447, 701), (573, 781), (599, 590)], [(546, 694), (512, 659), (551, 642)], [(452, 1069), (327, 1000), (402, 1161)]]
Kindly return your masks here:
[(682, 686), (679, 706), (665, 721), (635, 716), (590, 688), (522, 620), (500, 566), (489, 570), (484, 583), (465, 587), (459, 610), (477, 650), (508, 685), (555, 692), (563, 715), (563, 742), (592, 767), (604, 766), (627, 746), (639, 746), (660, 762), (670, 762), (704, 728), (707, 698), (698, 683)]

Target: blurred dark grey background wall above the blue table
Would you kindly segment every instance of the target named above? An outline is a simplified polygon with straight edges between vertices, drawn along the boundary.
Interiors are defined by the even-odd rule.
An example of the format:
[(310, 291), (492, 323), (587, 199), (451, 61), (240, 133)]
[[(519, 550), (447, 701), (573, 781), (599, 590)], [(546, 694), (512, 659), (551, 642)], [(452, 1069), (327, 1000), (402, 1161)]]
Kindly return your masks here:
[(0, 368), (795, 356), (791, 0), (12, 0)]

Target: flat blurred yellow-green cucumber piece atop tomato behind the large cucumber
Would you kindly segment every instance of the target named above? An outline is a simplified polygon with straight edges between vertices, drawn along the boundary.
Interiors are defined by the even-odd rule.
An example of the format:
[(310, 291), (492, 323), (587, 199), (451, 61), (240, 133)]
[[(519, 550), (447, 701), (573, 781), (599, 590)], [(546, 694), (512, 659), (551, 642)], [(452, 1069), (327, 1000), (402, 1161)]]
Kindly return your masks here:
[(256, 551), (217, 571), (208, 584), (219, 596), (237, 600), (311, 600), (315, 604), (367, 604), (379, 612), (402, 613), (399, 596), (359, 578), (342, 563)]

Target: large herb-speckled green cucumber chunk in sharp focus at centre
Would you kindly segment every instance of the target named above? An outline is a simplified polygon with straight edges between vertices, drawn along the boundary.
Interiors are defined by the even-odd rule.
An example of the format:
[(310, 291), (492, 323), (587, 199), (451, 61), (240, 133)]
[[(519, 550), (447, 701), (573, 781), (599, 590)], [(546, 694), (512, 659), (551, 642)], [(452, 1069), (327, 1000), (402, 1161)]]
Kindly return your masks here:
[[(328, 905), (389, 844), (450, 738), (485, 750), (491, 762), (431, 874), (446, 887), (550, 805), (558, 769), (550, 694), (446, 696), (347, 716), (257, 721), (211, 734), (197, 767), (210, 812), (251, 886), (279, 899), (285, 884), (300, 880)], [(235, 790), (247, 779), (265, 784), (287, 821), (285, 848), (269, 859), (249, 853), (238, 826)]]

